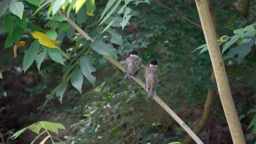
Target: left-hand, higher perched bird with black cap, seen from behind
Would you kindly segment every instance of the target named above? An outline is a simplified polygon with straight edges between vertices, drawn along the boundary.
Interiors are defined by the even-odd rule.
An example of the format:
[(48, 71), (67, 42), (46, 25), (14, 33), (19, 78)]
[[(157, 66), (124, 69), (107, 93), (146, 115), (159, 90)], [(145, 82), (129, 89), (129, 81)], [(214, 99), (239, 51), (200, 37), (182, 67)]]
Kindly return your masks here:
[(135, 77), (141, 69), (141, 58), (139, 57), (139, 51), (133, 50), (130, 57), (125, 59), (125, 79)]

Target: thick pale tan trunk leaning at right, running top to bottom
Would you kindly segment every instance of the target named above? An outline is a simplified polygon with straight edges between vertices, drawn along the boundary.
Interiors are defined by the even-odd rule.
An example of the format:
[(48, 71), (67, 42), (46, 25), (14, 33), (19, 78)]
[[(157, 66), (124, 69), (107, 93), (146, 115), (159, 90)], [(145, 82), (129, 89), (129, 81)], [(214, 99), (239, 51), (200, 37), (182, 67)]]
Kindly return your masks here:
[(195, 0), (197, 11), (203, 27), (205, 41), (208, 46), (213, 71), (216, 77), (216, 83), (221, 99), (222, 107), (229, 125), (229, 130), (234, 144), (245, 144), (242, 127), (237, 116), (235, 104), (229, 88), (227, 73), (217, 42), (217, 37), (213, 29), (213, 22), (208, 8), (207, 0)]

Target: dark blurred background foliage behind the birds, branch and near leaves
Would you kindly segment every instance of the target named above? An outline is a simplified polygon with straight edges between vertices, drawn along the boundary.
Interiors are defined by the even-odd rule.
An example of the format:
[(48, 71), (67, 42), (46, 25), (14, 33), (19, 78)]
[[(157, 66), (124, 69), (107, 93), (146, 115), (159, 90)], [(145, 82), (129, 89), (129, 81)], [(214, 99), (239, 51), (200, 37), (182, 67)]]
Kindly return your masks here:
[[(253, 24), (256, 20), (256, 1), (250, 1), (249, 15), (244, 18), (239, 13), (243, 0), (212, 0), (221, 36), (232, 37), (233, 30)], [(25, 0), (21, 2), (25, 5), (24, 14), (27, 15), (28, 23), (43, 29), (51, 28), (54, 22), (51, 23), (47, 16), (50, 5), (43, 7), (40, 13), (32, 15), (36, 9), (29, 7), (27, 1), (25, 4)], [(202, 29), (177, 14), (200, 24), (195, 1), (160, 1), (176, 13), (157, 3), (158, 0), (132, 1), (128, 5), (133, 15), (129, 24), (123, 30), (122, 27), (111, 27), (122, 36), (122, 45), (112, 43), (111, 34), (108, 32), (99, 36), (106, 26), (105, 24), (103, 28), (97, 28), (99, 17), (107, 2), (96, 1), (94, 16), (86, 15), (86, 8), (83, 6), (76, 15), (72, 11), (69, 17), (91, 37), (97, 36), (99, 40), (111, 44), (116, 49), (118, 61), (121, 63), (133, 49), (139, 50), (143, 59), (142, 67), (147, 66), (150, 59), (158, 59), (160, 82), (157, 95), (193, 128), (202, 115), (208, 88), (216, 88), (210, 79), (212, 67), (208, 52), (200, 55), (198, 51), (192, 52), (205, 44)], [(2, 31), (3, 23), (4, 16), (0, 17)], [(50, 27), (47, 24), (50, 24)], [(39, 72), (34, 63), (24, 73), (23, 56), (32, 43), (31, 36), (25, 33), (21, 37), (21, 40), (26, 41), (26, 45), (18, 48), (18, 57), (13, 59), (13, 49), (4, 50), (8, 35), (1, 32), (0, 72), (3, 79), (0, 79), (0, 131), (5, 144), (31, 142), (36, 136), (31, 131), (26, 131), (15, 140), (10, 140), (10, 137), (21, 128), (40, 120), (62, 123), (66, 129), (60, 130), (57, 137), (72, 144), (167, 144), (184, 140), (187, 133), (155, 101), (145, 99), (146, 92), (143, 88), (133, 80), (124, 80), (123, 72), (96, 51), (80, 47), (81, 43), (86, 45), (85, 40), (75, 29), (64, 24), (57, 28), (57, 40), (61, 41), (59, 46), (70, 58), (83, 49), (88, 51), (93, 67), (97, 69), (92, 72), (96, 77), (95, 87), (84, 79), (80, 94), (69, 84), (62, 104), (54, 96), (40, 113), (40, 108), (49, 94), (62, 82), (62, 75), (69, 68), (70, 59), (64, 58), (64, 64), (67, 66), (64, 67), (46, 56)], [(63, 29), (66, 31), (62, 31)], [(240, 51), (243, 51), (243, 47)], [(255, 44), (239, 64), (235, 59), (224, 61), (248, 144), (256, 142), (253, 129), (248, 129), (256, 111), (254, 51)], [(144, 70), (139, 72), (139, 77), (144, 80)], [(208, 144), (231, 144), (231, 135), (218, 95), (214, 101), (210, 119), (199, 136)], [(43, 138), (42, 136), (41, 140)], [(39, 142), (40, 140), (37, 143)]]

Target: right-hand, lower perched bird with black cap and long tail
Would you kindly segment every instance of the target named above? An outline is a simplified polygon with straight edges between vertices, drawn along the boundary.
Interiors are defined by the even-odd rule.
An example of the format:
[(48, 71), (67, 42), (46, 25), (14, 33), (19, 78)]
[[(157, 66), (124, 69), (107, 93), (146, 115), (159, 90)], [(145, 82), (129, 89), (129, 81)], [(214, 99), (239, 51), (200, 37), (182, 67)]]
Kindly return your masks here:
[(157, 64), (157, 59), (151, 59), (149, 67), (147, 67), (145, 70), (145, 88), (148, 89), (147, 98), (153, 98), (155, 88), (158, 85), (159, 69), (157, 68)]

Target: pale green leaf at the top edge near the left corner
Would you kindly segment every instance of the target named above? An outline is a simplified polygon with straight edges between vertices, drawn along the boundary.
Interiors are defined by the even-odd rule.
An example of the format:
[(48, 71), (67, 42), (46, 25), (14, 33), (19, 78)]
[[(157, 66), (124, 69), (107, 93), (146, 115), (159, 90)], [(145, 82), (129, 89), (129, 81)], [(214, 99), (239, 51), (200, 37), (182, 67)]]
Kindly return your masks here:
[(16, 16), (19, 16), (20, 19), (22, 19), (24, 4), (22, 2), (16, 2), (15, 0), (10, 0), (9, 10)]

